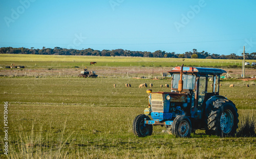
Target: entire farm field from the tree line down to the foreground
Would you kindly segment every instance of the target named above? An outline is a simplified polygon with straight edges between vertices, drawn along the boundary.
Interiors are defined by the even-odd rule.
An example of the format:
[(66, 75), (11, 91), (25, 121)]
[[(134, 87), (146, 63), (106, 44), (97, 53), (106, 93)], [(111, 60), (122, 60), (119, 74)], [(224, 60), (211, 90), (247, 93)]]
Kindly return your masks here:
[[(97, 64), (90, 66), (90, 61)], [(170, 88), (160, 88), (160, 84), (171, 80), (160, 75), (182, 63), (223, 66), (232, 77), (239, 77), (241, 69), (227, 66), (241, 61), (0, 54), (2, 67), (26, 66), (0, 70), (0, 112), (4, 112), (4, 102), (9, 105), (8, 157), (256, 158), (255, 137), (219, 138), (197, 130), (191, 138), (181, 139), (161, 126), (154, 126), (153, 134), (145, 138), (132, 132), (134, 118), (148, 105), (147, 88), (138, 88), (139, 84), (153, 83), (153, 92), (169, 92)], [(99, 78), (77, 77), (85, 66)], [(255, 69), (246, 69), (246, 76), (253, 75)], [(126, 88), (125, 83), (132, 87)], [(222, 79), (221, 84), (220, 95), (238, 108), (237, 131), (246, 117), (256, 124), (256, 81)], [(230, 88), (230, 84), (235, 86)], [(0, 158), (7, 158), (3, 127)]]

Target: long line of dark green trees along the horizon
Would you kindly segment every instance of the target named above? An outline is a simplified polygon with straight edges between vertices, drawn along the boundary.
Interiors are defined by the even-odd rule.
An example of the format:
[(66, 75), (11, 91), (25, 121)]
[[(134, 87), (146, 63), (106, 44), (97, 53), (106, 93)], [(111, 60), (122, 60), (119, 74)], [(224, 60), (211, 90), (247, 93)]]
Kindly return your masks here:
[[(243, 54), (236, 55), (219, 55), (210, 54), (197, 49), (185, 52), (184, 54), (176, 54), (175, 52), (165, 52), (157, 50), (155, 52), (147, 51), (130, 51), (123, 49), (115, 50), (93, 50), (91, 48), (76, 50), (55, 47), (54, 49), (42, 47), (42, 49), (28, 48), (0, 48), (0, 54), (37, 54), (37, 55), (82, 55), (82, 56), (134, 56), (134, 57), (158, 57), (158, 58), (200, 58), (200, 59), (243, 59)], [(245, 59), (256, 59), (256, 53), (245, 53)]]

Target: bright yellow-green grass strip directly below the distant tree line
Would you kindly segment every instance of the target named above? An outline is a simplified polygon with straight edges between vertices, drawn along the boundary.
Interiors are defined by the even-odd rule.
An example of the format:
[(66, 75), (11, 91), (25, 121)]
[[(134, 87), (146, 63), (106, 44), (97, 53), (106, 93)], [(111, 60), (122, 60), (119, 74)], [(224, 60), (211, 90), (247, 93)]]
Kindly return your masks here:
[[(228, 66), (242, 65), (242, 60), (226, 59), (180, 59), (180, 58), (142, 58), (142, 57), (100, 57), (100, 56), (63, 56), (63, 55), (24, 55), (24, 54), (0, 54), (2, 67), (11, 65), (24, 65), (25, 67), (74, 67), (90, 66), (177, 66), (184, 63), (185, 66)], [(253, 60), (246, 60), (253, 62)]]

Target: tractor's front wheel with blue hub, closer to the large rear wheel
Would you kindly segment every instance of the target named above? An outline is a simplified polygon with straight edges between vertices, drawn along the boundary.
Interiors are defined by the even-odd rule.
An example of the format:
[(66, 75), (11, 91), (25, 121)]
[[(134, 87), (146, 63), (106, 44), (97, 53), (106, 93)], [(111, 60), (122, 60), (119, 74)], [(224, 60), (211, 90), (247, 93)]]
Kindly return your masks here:
[(174, 119), (172, 125), (172, 132), (176, 137), (187, 138), (190, 137), (191, 133), (191, 122), (184, 116), (179, 115)]

